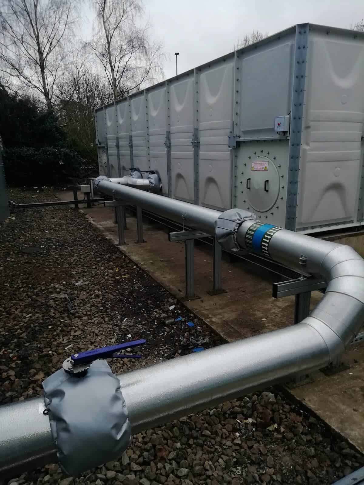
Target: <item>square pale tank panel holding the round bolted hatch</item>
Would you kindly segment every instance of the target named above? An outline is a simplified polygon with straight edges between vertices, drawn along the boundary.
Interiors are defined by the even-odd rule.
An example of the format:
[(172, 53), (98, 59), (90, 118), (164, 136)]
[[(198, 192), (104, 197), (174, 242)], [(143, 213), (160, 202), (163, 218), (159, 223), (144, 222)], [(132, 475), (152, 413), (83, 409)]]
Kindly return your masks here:
[(237, 150), (235, 207), (284, 227), (288, 140), (240, 143)]

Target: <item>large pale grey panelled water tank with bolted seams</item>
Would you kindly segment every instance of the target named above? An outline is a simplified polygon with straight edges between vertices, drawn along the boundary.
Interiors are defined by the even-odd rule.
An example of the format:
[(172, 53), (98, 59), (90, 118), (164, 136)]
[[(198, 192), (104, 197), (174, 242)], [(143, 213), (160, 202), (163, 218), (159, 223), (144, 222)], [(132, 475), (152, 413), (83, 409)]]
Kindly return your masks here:
[(100, 174), (310, 233), (363, 220), (364, 33), (302, 24), (96, 111)]

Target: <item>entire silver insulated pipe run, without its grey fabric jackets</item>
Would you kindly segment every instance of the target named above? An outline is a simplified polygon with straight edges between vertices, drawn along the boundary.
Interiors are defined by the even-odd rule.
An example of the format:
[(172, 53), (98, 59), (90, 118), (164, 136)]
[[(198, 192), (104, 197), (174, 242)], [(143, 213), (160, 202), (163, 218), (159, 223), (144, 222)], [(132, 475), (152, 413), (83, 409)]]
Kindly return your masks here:
[[(221, 214), (105, 180), (99, 181), (99, 191), (115, 192), (116, 198), (211, 235)], [(244, 217), (249, 220), (239, 226), (235, 238), (242, 249), (251, 250), (249, 234), (259, 223), (251, 213)], [(261, 225), (261, 234), (263, 226), (269, 225)], [(324, 367), (356, 335), (364, 319), (364, 260), (348, 246), (278, 227), (271, 232), (265, 246), (272, 259), (298, 267), (305, 255), (306, 271), (326, 279), (321, 302), (297, 325), (119, 375), (132, 433)], [(255, 241), (253, 251), (261, 252), (262, 244)], [(55, 460), (49, 420), (42, 409), (41, 398), (0, 406), (0, 471)]]

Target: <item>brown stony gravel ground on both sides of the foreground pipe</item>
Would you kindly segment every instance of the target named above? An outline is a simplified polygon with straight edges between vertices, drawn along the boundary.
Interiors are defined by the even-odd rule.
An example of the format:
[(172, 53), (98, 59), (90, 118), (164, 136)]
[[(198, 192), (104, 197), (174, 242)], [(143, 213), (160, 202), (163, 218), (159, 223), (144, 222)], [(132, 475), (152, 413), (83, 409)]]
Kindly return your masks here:
[[(10, 198), (54, 194), (12, 190)], [(22, 253), (28, 246), (40, 251)], [(42, 380), (75, 351), (147, 339), (143, 359), (110, 361), (120, 373), (223, 343), (71, 208), (12, 214), (0, 225), (0, 272), (1, 404), (42, 394)], [(135, 435), (119, 461), (81, 477), (52, 464), (4, 483), (331, 484), (363, 465), (322, 421), (267, 389)]]

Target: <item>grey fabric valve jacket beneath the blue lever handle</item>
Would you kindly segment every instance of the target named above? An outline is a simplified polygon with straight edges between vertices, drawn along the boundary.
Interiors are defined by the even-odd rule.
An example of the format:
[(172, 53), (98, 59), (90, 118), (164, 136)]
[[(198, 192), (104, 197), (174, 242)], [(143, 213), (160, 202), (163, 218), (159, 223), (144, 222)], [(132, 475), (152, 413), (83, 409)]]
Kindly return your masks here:
[(58, 461), (67, 475), (115, 460), (126, 450), (128, 411), (120, 381), (107, 362), (96, 360), (79, 378), (57, 371), (43, 388)]

